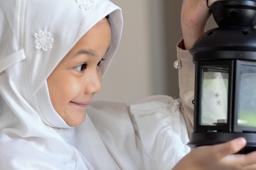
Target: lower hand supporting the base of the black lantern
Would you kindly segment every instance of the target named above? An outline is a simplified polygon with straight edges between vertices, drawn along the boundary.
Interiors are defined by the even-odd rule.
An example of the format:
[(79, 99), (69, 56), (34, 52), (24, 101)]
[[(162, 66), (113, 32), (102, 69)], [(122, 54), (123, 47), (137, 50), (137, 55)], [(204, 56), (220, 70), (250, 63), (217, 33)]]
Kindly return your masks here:
[(245, 145), (245, 139), (240, 137), (223, 144), (197, 147), (172, 170), (256, 170), (256, 152), (235, 154)]

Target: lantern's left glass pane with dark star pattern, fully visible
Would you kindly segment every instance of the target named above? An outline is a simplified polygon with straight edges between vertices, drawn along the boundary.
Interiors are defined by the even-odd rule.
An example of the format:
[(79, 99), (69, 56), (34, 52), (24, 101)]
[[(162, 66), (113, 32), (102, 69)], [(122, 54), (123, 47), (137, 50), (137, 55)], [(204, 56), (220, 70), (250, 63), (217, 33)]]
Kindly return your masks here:
[(200, 125), (227, 124), (229, 68), (224, 65), (201, 66)]

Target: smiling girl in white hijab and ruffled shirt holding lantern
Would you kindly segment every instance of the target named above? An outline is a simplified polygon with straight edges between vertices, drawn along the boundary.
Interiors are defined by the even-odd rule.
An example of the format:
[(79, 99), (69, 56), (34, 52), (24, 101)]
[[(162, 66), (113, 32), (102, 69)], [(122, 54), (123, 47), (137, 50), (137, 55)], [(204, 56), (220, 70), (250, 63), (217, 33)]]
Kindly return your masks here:
[[(209, 13), (196, 1), (183, 6), (192, 19), (203, 16), (194, 25)], [(186, 31), (203, 32), (193, 24), (182, 27), (186, 48)], [(0, 0), (0, 30), (1, 170), (171, 170), (180, 159), (173, 170), (256, 169), (256, 153), (231, 155), (244, 139), (189, 153), (186, 84), (180, 100), (91, 103), (121, 37), (121, 9), (110, 1)], [(182, 53), (180, 83), (184, 61), (191, 64)]]

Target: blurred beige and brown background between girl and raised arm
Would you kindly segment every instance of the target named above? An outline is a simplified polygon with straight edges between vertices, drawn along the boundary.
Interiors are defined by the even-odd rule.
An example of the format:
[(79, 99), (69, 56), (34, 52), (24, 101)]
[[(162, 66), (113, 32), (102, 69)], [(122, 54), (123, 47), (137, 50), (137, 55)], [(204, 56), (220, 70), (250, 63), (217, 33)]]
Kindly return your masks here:
[[(176, 44), (182, 0), (112, 0), (121, 7), (119, 49), (94, 100), (132, 102), (149, 95), (179, 98)], [(213, 19), (207, 29), (215, 28)]]

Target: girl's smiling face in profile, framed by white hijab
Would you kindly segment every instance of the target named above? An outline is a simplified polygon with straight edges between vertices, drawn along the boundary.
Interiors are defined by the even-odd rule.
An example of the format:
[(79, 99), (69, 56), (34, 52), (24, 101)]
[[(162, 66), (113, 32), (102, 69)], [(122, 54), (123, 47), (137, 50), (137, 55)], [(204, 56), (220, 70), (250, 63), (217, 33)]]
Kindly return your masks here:
[(111, 41), (106, 18), (92, 27), (47, 78), (56, 112), (69, 126), (83, 123), (94, 93), (101, 90), (101, 62)]

